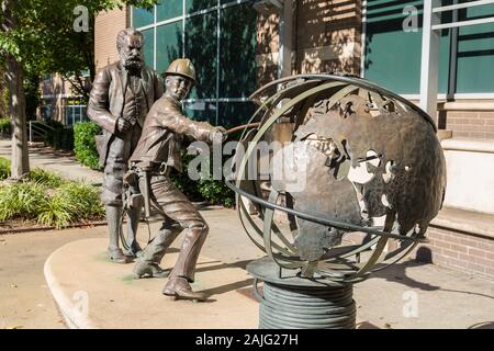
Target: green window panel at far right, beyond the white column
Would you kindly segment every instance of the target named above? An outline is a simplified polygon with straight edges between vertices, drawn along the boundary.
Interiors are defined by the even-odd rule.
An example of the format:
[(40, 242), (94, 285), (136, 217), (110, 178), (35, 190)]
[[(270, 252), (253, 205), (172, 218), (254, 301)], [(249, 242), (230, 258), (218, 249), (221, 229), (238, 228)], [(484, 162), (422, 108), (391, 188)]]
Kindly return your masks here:
[[(460, 20), (494, 15), (494, 5), (482, 5), (460, 12)], [(460, 29), (457, 92), (494, 92), (494, 23)]]

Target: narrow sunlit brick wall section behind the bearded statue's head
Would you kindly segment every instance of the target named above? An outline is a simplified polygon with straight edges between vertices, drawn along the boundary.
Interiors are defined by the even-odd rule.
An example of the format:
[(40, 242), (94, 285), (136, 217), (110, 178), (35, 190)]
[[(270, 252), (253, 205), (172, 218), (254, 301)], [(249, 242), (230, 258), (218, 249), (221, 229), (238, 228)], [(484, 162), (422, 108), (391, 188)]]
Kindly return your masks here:
[(98, 14), (94, 27), (97, 71), (117, 60), (116, 34), (130, 26), (130, 11), (126, 8)]

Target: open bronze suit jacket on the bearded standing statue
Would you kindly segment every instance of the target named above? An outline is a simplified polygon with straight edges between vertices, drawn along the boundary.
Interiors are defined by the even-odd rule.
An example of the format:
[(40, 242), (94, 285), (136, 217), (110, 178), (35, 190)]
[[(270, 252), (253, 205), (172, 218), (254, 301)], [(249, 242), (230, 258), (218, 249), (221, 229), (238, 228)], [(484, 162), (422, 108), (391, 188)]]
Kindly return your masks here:
[[(148, 111), (156, 100), (164, 93), (164, 81), (159, 75), (149, 67), (144, 66), (141, 72), (143, 89), (146, 94)], [(103, 136), (97, 139), (100, 154), (100, 165), (106, 163), (106, 155), (112, 135), (115, 134), (116, 120), (125, 118), (125, 92), (128, 73), (120, 61), (103, 68), (94, 79), (88, 104), (88, 117), (103, 128)], [(143, 118), (144, 120), (144, 118)], [(144, 121), (138, 121), (141, 127)]]

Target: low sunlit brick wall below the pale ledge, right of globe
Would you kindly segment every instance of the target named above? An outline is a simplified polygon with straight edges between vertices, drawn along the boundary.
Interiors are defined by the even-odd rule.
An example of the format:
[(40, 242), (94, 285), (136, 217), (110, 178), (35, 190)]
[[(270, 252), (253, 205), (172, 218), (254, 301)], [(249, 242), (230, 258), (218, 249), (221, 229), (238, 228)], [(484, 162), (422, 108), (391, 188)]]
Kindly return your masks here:
[(494, 279), (494, 237), (430, 227), (417, 259)]

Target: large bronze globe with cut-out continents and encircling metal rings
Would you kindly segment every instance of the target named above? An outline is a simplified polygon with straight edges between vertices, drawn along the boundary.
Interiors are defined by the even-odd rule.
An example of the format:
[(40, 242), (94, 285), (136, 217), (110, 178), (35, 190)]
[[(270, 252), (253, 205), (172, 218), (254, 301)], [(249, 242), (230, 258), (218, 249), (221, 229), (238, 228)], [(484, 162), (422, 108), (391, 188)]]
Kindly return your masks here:
[[(429, 115), (348, 76), (293, 76), (250, 99), (259, 109), (249, 123), (260, 121), (260, 126), (244, 131), (247, 151), (235, 162), (235, 184), (226, 183), (236, 192), (247, 235), (279, 267), (299, 270), (302, 278), (355, 283), (400, 261), (424, 239), (446, 191), (445, 157)], [(290, 190), (285, 178), (274, 179), (276, 167), (268, 185), (259, 177), (244, 179), (258, 143), (280, 118), (293, 123), (293, 134), (273, 163), (278, 160), (288, 174), (305, 165), (308, 186), (303, 189)], [(288, 214), (290, 235), (276, 223), (276, 211)], [(341, 245), (350, 234), (360, 242)]]

